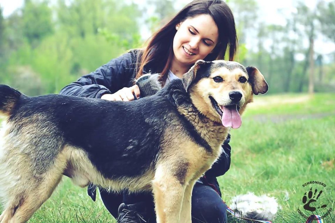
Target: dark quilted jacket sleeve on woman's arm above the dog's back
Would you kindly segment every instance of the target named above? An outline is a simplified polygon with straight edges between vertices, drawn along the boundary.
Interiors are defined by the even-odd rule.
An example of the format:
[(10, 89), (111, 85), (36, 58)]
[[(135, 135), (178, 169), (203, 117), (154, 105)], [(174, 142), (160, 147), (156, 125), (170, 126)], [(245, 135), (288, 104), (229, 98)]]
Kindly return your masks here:
[(131, 86), (135, 66), (136, 51), (129, 51), (65, 86), (60, 94), (86, 98), (113, 94), (123, 87)]

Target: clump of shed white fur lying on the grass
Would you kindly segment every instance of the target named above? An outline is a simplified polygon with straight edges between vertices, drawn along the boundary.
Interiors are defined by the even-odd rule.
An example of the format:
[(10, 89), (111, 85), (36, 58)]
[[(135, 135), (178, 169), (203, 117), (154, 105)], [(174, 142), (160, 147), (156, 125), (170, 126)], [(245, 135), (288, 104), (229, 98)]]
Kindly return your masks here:
[(281, 209), (274, 197), (256, 196), (251, 192), (233, 197), (230, 204), (230, 208), (240, 217), (263, 221), (272, 221), (278, 209)]

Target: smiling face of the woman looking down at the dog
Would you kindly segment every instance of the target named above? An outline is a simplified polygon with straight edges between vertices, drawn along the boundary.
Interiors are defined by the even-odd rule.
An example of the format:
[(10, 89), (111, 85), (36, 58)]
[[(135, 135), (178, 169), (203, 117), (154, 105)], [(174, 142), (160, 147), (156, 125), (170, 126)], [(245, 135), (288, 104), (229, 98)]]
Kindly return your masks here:
[(210, 15), (201, 14), (188, 18), (179, 23), (176, 29), (173, 60), (185, 65), (204, 59), (218, 41), (218, 28)]

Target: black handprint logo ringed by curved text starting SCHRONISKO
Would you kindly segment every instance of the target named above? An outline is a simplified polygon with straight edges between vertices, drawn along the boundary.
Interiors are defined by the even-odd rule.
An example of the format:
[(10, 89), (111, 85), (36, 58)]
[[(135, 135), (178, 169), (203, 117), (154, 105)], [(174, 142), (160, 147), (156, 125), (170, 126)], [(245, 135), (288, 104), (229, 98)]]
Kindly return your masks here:
[[(303, 184), (303, 187), (307, 187), (307, 186), (311, 186), (311, 188), (309, 191), (307, 189), (306, 192), (303, 194), (302, 204), (303, 204), (304, 210), (308, 212), (313, 212), (313, 213), (311, 216), (309, 216), (311, 213), (305, 214), (303, 213), (304, 210), (300, 210), (298, 208), (297, 211), (299, 215), (301, 215), (304, 218), (311, 219), (311, 220), (312, 219), (321, 220), (327, 217), (332, 211), (332, 208), (329, 208), (329, 210), (327, 210), (327, 204), (325, 204), (326, 194), (324, 192), (324, 188), (326, 188), (327, 185), (322, 183), (321, 181), (310, 181), (310, 182), (306, 182), (305, 184)], [(320, 189), (320, 187), (322, 188)]]

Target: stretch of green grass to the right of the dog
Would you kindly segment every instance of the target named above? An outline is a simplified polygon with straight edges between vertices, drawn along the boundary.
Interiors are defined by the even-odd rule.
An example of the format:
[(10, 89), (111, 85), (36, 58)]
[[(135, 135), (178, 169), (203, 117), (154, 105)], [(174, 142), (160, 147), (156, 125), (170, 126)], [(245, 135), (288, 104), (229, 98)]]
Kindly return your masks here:
[[(298, 96), (302, 97), (305, 96)], [(278, 98), (285, 100), (293, 96), (267, 96), (266, 101), (271, 103)], [(260, 100), (261, 96), (255, 103)], [(303, 222), (296, 210), (304, 210), (302, 197), (313, 187), (323, 190), (317, 203), (327, 204), (327, 210), (333, 209), (324, 221), (335, 222), (335, 95), (315, 95), (300, 101), (281, 106), (251, 106), (242, 118), (242, 127), (231, 130), (231, 167), (218, 178), (222, 197), (228, 205), (231, 197), (239, 194), (267, 194), (276, 197), (282, 207), (279, 212), (282, 217), (274, 222)], [(255, 118), (258, 112), (269, 115), (271, 120), (281, 120), (278, 118), (289, 114), (295, 116), (271, 122)], [(327, 115), (321, 118), (313, 115), (320, 113)], [(307, 114), (309, 118), (304, 118)], [(302, 187), (313, 180), (324, 182), (326, 188)], [(305, 214), (311, 213), (305, 211)]]

